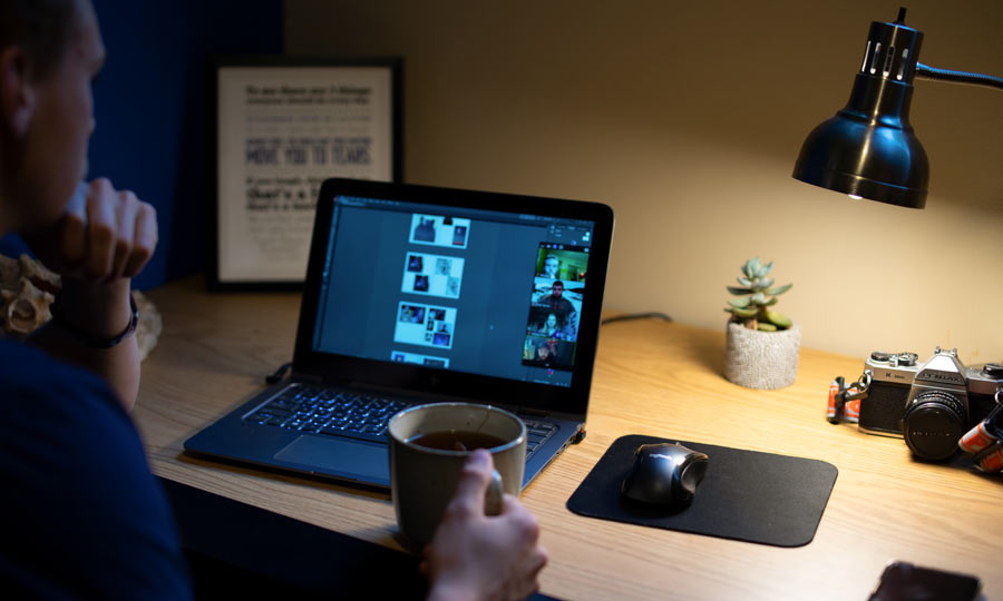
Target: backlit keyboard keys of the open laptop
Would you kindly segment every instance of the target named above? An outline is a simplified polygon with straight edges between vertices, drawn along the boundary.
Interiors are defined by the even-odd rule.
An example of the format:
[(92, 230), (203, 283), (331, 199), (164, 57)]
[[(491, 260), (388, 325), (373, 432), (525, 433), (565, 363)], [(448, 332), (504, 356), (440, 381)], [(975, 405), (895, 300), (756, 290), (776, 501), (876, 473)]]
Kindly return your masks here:
[[(409, 403), (366, 394), (312, 386), (289, 386), (282, 394), (244, 416), (255, 424), (295, 430), (321, 436), (349, 436), (387, 442), (387, 424)], [(557, 426), (520, 417), (526, 424), (528, 459)]]

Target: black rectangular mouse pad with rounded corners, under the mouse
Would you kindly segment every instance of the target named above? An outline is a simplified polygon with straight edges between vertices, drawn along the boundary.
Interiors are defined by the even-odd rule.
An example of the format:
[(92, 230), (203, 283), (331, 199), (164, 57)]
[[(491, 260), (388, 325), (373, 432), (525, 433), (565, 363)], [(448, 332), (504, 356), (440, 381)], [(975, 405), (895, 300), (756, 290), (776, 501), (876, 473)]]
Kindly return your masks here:
[[(708, 456), (707, 475), (693, 503), (676, 513), (620, 495), (620, 485), (634, 466), (634, 451), (642, 444), (662, 442), (679, 442)], [(801, 546), (815, 538), (836, 474), (835, 465), (818, 460), (629, 435), (610, 445), (567, 500), (567, 509), (615, 522)]]

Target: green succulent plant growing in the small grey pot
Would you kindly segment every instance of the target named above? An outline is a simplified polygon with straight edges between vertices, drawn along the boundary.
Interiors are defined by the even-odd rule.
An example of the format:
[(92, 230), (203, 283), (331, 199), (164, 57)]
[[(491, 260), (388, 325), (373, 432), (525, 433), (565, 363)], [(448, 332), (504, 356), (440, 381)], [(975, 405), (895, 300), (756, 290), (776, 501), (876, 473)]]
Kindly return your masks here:
[(732, 322), (760, 332), (777, 332), (792, 325), (788, 317), (770, 308), (777, 304), (778, 296), (793, 286), (772, 287), (773, 278), (768, 277), (772, 269), (773, 262), (763, 265), (759, 257), (742, 265), (742, 275), (738, 278), (741, 286), (728, 286), (728, 292), (739, 297), (729, 299), (729, 306), (724, 308), (731, 314)]

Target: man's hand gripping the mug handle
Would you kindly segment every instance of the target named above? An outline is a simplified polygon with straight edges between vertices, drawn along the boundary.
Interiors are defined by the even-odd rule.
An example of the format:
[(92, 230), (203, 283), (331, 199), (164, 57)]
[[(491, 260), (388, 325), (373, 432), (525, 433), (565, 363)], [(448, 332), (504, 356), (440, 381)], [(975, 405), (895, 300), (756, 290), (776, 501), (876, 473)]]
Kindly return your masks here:
[(456, 494), (426, 549), (430, 601), (516, 600), (539, 589), (547, 552), (539, 545), (536, 518), (510, 494), (501, 513), (484, 514), (491, 455), (475, 451), (464, 465)]

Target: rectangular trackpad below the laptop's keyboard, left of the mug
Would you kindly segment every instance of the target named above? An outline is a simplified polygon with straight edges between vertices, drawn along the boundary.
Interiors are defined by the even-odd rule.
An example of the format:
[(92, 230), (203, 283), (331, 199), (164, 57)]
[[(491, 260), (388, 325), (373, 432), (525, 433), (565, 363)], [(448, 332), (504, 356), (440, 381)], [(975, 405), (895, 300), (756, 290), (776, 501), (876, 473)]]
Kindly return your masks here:
[(300, 436), (274, 459), (373, 482), (390, 482), (387, 446), (360, 441)]

